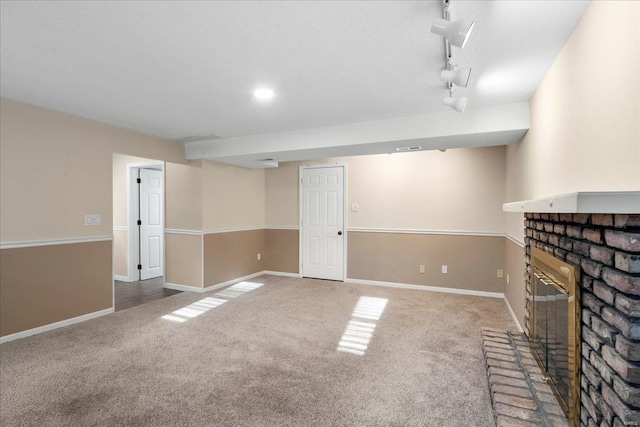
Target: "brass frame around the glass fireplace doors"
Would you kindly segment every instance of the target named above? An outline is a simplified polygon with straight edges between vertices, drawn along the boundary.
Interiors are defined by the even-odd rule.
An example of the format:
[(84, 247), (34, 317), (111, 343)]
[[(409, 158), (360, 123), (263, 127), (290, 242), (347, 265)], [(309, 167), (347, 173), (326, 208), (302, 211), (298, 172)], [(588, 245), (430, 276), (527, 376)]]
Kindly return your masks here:
[[(536, 278), (543, 281), (545, 285), (553, 286), (558, 291), (567, 295), (567, 323), (568, 323), (568, 379), (569, 379), (569, 399), (565, 400), (558, 387), (556, 379), (549, 377), (549, 372), (542, 362), (541, 355), (538, 354), (534, 342), (537, 337), (536, 325)], [(532, 331), (529, 337), (529, 345), (538, 365), (548, 377), (547, 383), (553, 390), (560, 406), (565, 411), (570, 426), (580, 425), (580, 345), (581, 345), (581, 323), (580, 323), (580, 270), (578, 267), (568, 264), (540, 249), (531, 248), (531, 315)], [(545, 344), (547, 345), (547, 344)]]

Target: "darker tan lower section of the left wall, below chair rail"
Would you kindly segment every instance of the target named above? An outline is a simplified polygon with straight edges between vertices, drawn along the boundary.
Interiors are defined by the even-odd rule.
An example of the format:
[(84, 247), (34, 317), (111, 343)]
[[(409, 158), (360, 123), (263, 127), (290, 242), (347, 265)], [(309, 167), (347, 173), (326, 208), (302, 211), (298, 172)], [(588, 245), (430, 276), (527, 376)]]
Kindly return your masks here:
[(113, 307), (111, 242), (1, 249), (0, 335)]

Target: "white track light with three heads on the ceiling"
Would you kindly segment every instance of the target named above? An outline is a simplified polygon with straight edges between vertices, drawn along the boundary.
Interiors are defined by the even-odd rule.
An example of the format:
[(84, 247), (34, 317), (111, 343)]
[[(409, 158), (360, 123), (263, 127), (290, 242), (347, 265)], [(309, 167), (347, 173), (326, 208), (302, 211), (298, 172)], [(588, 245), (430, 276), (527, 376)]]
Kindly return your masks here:
[(445, 67), (440, 72), (440, 80), (447, 82), (449, 96), (442, 100), (447, 105), (459, 113), (462, 113), (467, 107), (468, 99), (464, 96), (454, 98), (453, 85), (465, 88), (469, 84), (469, 76), (471, 76), (471, 68), (456, 68), (451, 57), (451, 46), (463, 48), (469, 39), (469, 34), (473, 29), (474, 23), (467, 19), (459, 21), (451, 21), (451, 3), (450, 0), (442, 0), (443, 19), (437, 19), (431, 26), (431, 32), (443, 36), (445, 48)]

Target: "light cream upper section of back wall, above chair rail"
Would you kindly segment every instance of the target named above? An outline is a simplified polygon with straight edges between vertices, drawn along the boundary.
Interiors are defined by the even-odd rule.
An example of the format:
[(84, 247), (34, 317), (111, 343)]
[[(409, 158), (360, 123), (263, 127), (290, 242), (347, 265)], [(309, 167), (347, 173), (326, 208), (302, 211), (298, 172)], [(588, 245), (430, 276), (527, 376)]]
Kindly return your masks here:
[(349, 227), (503, 230), (504, 147), (284, 163), (265, 172), (267, 225), (298, 225), (299, 166), (319, 163), (347, 164)]

